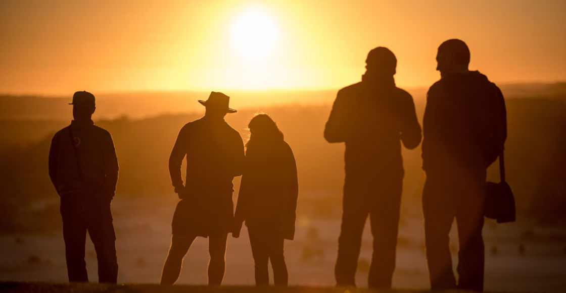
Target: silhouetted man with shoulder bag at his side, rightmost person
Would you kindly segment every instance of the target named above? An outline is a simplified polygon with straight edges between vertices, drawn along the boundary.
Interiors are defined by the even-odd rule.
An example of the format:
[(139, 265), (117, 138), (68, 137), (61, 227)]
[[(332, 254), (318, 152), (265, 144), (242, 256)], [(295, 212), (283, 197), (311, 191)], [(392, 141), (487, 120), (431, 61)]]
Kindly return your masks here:
[(483, 290), (486, 168), (503, 150), (507, 126), (501, 91), (468, 71), (470, 51), (448, 40), (436, 55), (440, 80), (428, 90), (423, 119), (424, 231), (433, 289), (455, 288), (448, 233), (456, 218), (458, 287)]

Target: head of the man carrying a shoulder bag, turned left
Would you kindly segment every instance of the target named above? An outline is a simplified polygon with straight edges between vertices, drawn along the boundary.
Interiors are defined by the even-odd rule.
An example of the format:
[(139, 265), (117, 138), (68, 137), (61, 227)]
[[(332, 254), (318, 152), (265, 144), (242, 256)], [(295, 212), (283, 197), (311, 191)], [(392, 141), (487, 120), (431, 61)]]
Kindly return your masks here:
[(440, 76), (447, 73), (468, 71), (470, 64), (470, 49), (464, 41), (451, 39), (440, 44), (436, 54), (436, 70)]

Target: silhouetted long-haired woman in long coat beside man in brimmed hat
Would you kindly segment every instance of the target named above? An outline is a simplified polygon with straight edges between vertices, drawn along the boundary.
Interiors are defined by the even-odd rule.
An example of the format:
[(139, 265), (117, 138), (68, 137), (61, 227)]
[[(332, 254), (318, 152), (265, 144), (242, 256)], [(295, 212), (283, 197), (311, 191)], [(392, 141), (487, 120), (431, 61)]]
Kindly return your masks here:
[(297, 165), (283, 133), (269, 116), (256, 115), (248, 128), (251, 135), (232, 235), (239, 237), (242, 222), (246, 221), (257, 286), (269, 285), (269, 260), (275, 285), (287, 286), (283, 243), (284, 239), (293, 240), (295, 234)]

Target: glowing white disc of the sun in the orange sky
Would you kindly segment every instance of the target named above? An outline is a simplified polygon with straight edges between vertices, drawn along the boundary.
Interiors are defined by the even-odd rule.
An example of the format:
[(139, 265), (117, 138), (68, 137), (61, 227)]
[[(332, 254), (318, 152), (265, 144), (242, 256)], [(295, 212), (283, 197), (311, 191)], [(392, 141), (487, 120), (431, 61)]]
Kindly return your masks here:
[(264, 58), (273, 51), (277, 42), (275, 21), (259, 8), (248, 8), (231, 27), (232, 41), (246, 58)]

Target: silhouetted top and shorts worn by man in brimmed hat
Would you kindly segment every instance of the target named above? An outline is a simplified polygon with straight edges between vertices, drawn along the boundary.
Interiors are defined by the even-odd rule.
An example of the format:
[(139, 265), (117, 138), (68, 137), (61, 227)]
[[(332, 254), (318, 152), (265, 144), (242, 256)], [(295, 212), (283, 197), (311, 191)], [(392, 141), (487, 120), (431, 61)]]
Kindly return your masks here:
[(231, 229), (232, 180), (242, 174), (243, 161), (242, 138), (224, 120), (204, 116), (183, 126), (169, 157), (171, 183), (182, 194), (173, 216), (173, 234), (207, 236)]

